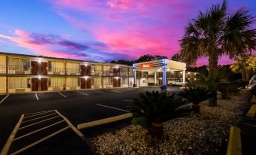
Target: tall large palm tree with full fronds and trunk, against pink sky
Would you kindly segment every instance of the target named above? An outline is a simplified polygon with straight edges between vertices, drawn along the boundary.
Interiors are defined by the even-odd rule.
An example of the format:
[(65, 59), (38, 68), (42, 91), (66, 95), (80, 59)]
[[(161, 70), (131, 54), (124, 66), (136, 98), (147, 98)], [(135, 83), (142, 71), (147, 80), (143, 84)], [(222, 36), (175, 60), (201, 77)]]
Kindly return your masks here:
[[(208, 57), (209, 76), (217, 74), (219, 56), (231, 59), (251, 53), (256, 48), (256, 29), (251, 29), (254, 17), (245, 8), (233, 14), (227, 13), (227, 1), (222, 5), (212, 5), (206, 13), (201, 11), (190, 20), (180, 40), (180, 55), (185, 62), (195, 64), (201, 57)], [(212, 78), (214, 79), (214, 78)], [(217, 105), (217, 84), (211, 81), (214, 97), (210, 105)]]

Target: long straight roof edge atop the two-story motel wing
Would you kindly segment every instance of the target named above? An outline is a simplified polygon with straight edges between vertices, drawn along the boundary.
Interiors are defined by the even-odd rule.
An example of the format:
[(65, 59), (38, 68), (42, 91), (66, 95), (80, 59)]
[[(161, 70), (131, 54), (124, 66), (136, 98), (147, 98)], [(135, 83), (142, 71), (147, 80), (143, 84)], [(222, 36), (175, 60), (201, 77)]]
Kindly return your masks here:
[(101, 63), (101, 64), (108, 64), (108, 65), (120, 65), (120, 66), (128, 66), (131, 65), (123, 65), (118, 63), (109, 63), (109, 62), (92, 62), (92, 61), (85, 61), (85, 60), (79, 60), (79, 59), (66, 59), (66, 58), (57, 58), (57, 57), (50, 57), (50, 56), (36, 56), (36, 55), (29, 55), (29, 54), (20, 54), (20, 53), (7, 53), (7, 52), (1, 52), (0, 54), (5, 55), (13, 55), (13, 56), (27, 56), (27, 57), (35, 57), (35, 58), (44, 58), (44, 59), (60, 59), (60, 60), (69, 60), (69, 61), (76, 61), (76, 62), (89, 62), (89, 63)]

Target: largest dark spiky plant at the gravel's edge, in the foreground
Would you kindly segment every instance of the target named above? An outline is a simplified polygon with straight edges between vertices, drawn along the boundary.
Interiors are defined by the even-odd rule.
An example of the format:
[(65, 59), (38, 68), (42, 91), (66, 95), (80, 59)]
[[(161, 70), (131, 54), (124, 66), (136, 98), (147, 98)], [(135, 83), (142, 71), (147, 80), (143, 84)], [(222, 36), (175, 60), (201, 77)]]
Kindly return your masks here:
[(184, 99), (175, 94), (153, 91), (140, 93), (128, 106), (128, 110), (134, 116), (132, 123), (143, 126), (152, 137), (159, 138), (163, 133), (162, 123), (182, 114), (177, 110), (181, 105), (184, 105)]

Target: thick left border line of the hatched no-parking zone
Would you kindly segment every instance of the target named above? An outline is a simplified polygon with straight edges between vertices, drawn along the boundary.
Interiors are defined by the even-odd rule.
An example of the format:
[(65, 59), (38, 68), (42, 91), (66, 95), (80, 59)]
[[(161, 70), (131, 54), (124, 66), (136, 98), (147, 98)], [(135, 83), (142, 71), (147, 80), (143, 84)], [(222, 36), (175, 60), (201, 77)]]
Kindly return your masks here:
[(6, 155), (6, 154), (8, 153), (8, 151), (9, 151), (9, 149), (10, 149), (10, 147), (11, 147), (11, 143), (12, 143), (12, 141), (14, 140), (14, 136), (16, 135), (17, 130), (19, 129), (20, 124), (21, 124), (21, 122), (22, 122), (22, 120), (23, 120), (23, 117), (24, 117), (24, 114), (21, 115), (20, 120), (18, 121), (18, 123), (17, 123), (16, 126), (14, 127), (13, 132), (11, 132), (11, 135), (10, 135), (10, 137), (8, 138), (7, 142), (5, 143), (5, 146), (3, 147), (3, 149), (2, 149), (2, 151), (1, 151), (1, 153), (0, 153), (0, 155)]

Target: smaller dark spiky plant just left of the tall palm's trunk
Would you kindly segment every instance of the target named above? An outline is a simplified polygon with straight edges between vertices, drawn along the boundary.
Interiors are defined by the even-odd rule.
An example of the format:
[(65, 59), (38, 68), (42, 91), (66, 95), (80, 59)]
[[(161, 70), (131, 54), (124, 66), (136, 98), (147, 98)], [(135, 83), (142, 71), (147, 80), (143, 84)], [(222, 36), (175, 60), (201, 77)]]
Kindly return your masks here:
[(178, 93), (177, 95), (186, 99), (189, 102), (192, 102), (193, 111), (195, 113), (200, 113), (199, 103), (205, 101), (206, 99), (210, 99), (212, 93), (206, 87), (195, 86), (185, 88), (182, 92)]

